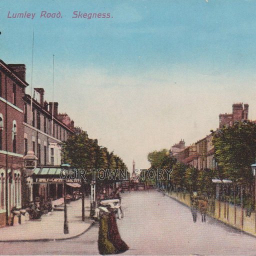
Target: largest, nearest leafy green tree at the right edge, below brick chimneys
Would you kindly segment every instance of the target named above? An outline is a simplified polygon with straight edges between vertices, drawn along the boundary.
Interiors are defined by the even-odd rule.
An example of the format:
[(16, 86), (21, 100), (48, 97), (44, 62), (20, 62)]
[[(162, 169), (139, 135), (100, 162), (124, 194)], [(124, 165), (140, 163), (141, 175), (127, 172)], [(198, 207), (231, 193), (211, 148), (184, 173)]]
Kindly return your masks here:
[(256, 124), (235, 122), (213, 133), (215, 159), (225, 178), (251, 182), (256, 156)]

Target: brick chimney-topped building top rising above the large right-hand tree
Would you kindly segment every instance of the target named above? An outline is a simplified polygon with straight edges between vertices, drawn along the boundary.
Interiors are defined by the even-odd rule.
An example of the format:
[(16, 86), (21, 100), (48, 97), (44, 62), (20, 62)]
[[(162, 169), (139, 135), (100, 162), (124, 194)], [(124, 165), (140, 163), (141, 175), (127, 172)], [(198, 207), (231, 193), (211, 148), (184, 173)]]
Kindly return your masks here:
[(231, 126), (234, 121), (242, 121), (248, 119), (248, 104), (234, 103), (232, 105), (232, 113), (219, 114), (219, 128), (224, 125)]

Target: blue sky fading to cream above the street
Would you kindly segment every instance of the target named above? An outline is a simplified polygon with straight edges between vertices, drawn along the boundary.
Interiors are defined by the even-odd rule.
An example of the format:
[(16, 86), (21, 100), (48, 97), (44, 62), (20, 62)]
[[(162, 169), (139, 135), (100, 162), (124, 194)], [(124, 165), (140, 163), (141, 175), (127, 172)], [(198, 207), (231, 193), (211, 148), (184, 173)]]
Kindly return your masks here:
[[(203, 138), (232, 103), (256, 119), (255, 9), (255, 0), (0, 0), (0, 59), (24, 63), (26, 92), (43, 87), (52, 101), (54, 54), (59, 112), (129, 170), (133, 159), (147, 168), (148, 152)], [(12, 17), (25, 11), (33, 19)]]

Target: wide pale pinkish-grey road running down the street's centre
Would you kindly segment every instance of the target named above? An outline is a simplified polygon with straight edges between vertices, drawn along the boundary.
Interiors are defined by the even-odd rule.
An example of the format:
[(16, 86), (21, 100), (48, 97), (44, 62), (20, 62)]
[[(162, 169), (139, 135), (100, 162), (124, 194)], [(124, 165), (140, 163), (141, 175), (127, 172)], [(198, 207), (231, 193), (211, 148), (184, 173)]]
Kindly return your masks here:
[[(256, 238), (212, 218), (192, 221), (190, 209), (157, 191), (122, 194), (125, 216), (120, 234), (130, 249), (126, 255), (256, 255)], [(65, 241), (0, 243), (1, 254), (93, 255), (98, 226)]]

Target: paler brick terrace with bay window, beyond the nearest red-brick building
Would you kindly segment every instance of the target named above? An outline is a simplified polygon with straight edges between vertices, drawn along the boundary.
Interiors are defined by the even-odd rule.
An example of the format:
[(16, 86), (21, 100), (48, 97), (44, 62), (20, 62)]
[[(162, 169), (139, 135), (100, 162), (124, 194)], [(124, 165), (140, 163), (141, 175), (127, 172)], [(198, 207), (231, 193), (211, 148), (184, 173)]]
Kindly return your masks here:
[[(34, 88), (32, 102), (30, 95), (25, 94), (23, 107), (24, 154), (30, 150), (38, 158), (35, 169), (37, 175), (44, 172), (50, 175), (61, 164), (61, 142), (74, 133), (74, 122), (66, 113), (58, 114), (57, 102), (52, 104), (44, 100), (43, 88)], [(35, 197), (43, 200), (62, 197), (62, 191), (63, 185), (60, 183), (33, 183), (32, 178), (28, 177), (23, 205), (28, 205)]]

